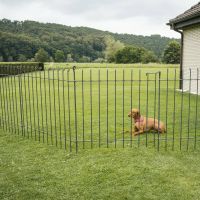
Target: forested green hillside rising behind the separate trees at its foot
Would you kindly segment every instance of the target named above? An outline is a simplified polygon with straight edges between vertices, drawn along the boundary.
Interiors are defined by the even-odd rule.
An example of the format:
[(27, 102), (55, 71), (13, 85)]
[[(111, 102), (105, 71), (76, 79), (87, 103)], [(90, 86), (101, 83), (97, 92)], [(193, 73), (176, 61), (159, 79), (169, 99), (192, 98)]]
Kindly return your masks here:
[(160, 35), (115, 34), (87, 27), (71, 27), (35, 21), (0, 20), (0, 61), (23, 61), (34, 58), (44, 48), (54, 59), (57, 50), (77, 62), (104, 58), (105, 37), (112, 36), (125, 45), (135, 45), (154, 52), (160, 59), (172, 39)]

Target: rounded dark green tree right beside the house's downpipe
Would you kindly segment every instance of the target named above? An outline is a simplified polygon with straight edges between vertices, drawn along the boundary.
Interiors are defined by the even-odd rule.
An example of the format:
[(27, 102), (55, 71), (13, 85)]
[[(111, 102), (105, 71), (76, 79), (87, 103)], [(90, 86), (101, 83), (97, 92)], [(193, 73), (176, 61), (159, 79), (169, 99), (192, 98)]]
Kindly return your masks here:
[(169, 64), (180, 63), (180, 44), (176, 41), (169, 42), (164, 50), (163, 61)]

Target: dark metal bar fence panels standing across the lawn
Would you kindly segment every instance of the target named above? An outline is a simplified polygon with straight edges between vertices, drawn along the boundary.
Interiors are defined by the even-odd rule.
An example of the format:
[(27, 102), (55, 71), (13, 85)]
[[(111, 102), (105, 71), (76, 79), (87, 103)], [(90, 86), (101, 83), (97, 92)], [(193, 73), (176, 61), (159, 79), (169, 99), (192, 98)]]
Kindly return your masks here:
[[(200, 77), (198, 69), (188, 73), (189, 78), (180, 80), (178, 68), (49, 68), (18, 75), (0, 72), (0, 125), (13, 134), (70, 152), (139, 146), (197, 149)], [(179, 89), (180, 81), (184, 89)], [(166, 133), (151, 130), (131, 134), (135, 123), (128, 113), (132, 108), (162, 121)]]

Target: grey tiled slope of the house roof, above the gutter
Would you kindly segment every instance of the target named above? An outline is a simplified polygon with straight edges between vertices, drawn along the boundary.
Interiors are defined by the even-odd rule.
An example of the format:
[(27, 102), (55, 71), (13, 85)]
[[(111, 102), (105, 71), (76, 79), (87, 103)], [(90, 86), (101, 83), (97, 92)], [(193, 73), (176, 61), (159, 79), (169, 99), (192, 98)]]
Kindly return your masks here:
[(186, 10), (184, 13), (178, 15), (174, 19), (171, 19), (169, 23), (182, 22), (188, 19), (195, 18), (197, 16), (200, 16), (200, 2), (192, 6), (190, 9)]

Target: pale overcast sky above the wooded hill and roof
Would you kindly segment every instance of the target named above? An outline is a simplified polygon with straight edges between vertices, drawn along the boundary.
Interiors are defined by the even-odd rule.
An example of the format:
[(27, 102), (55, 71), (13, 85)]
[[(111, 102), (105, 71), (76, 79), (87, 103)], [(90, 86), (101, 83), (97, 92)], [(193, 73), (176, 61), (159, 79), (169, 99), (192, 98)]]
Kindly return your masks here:
[(179, 38), (166, 23), (198, 0), (0, 0), (0, 19)]

